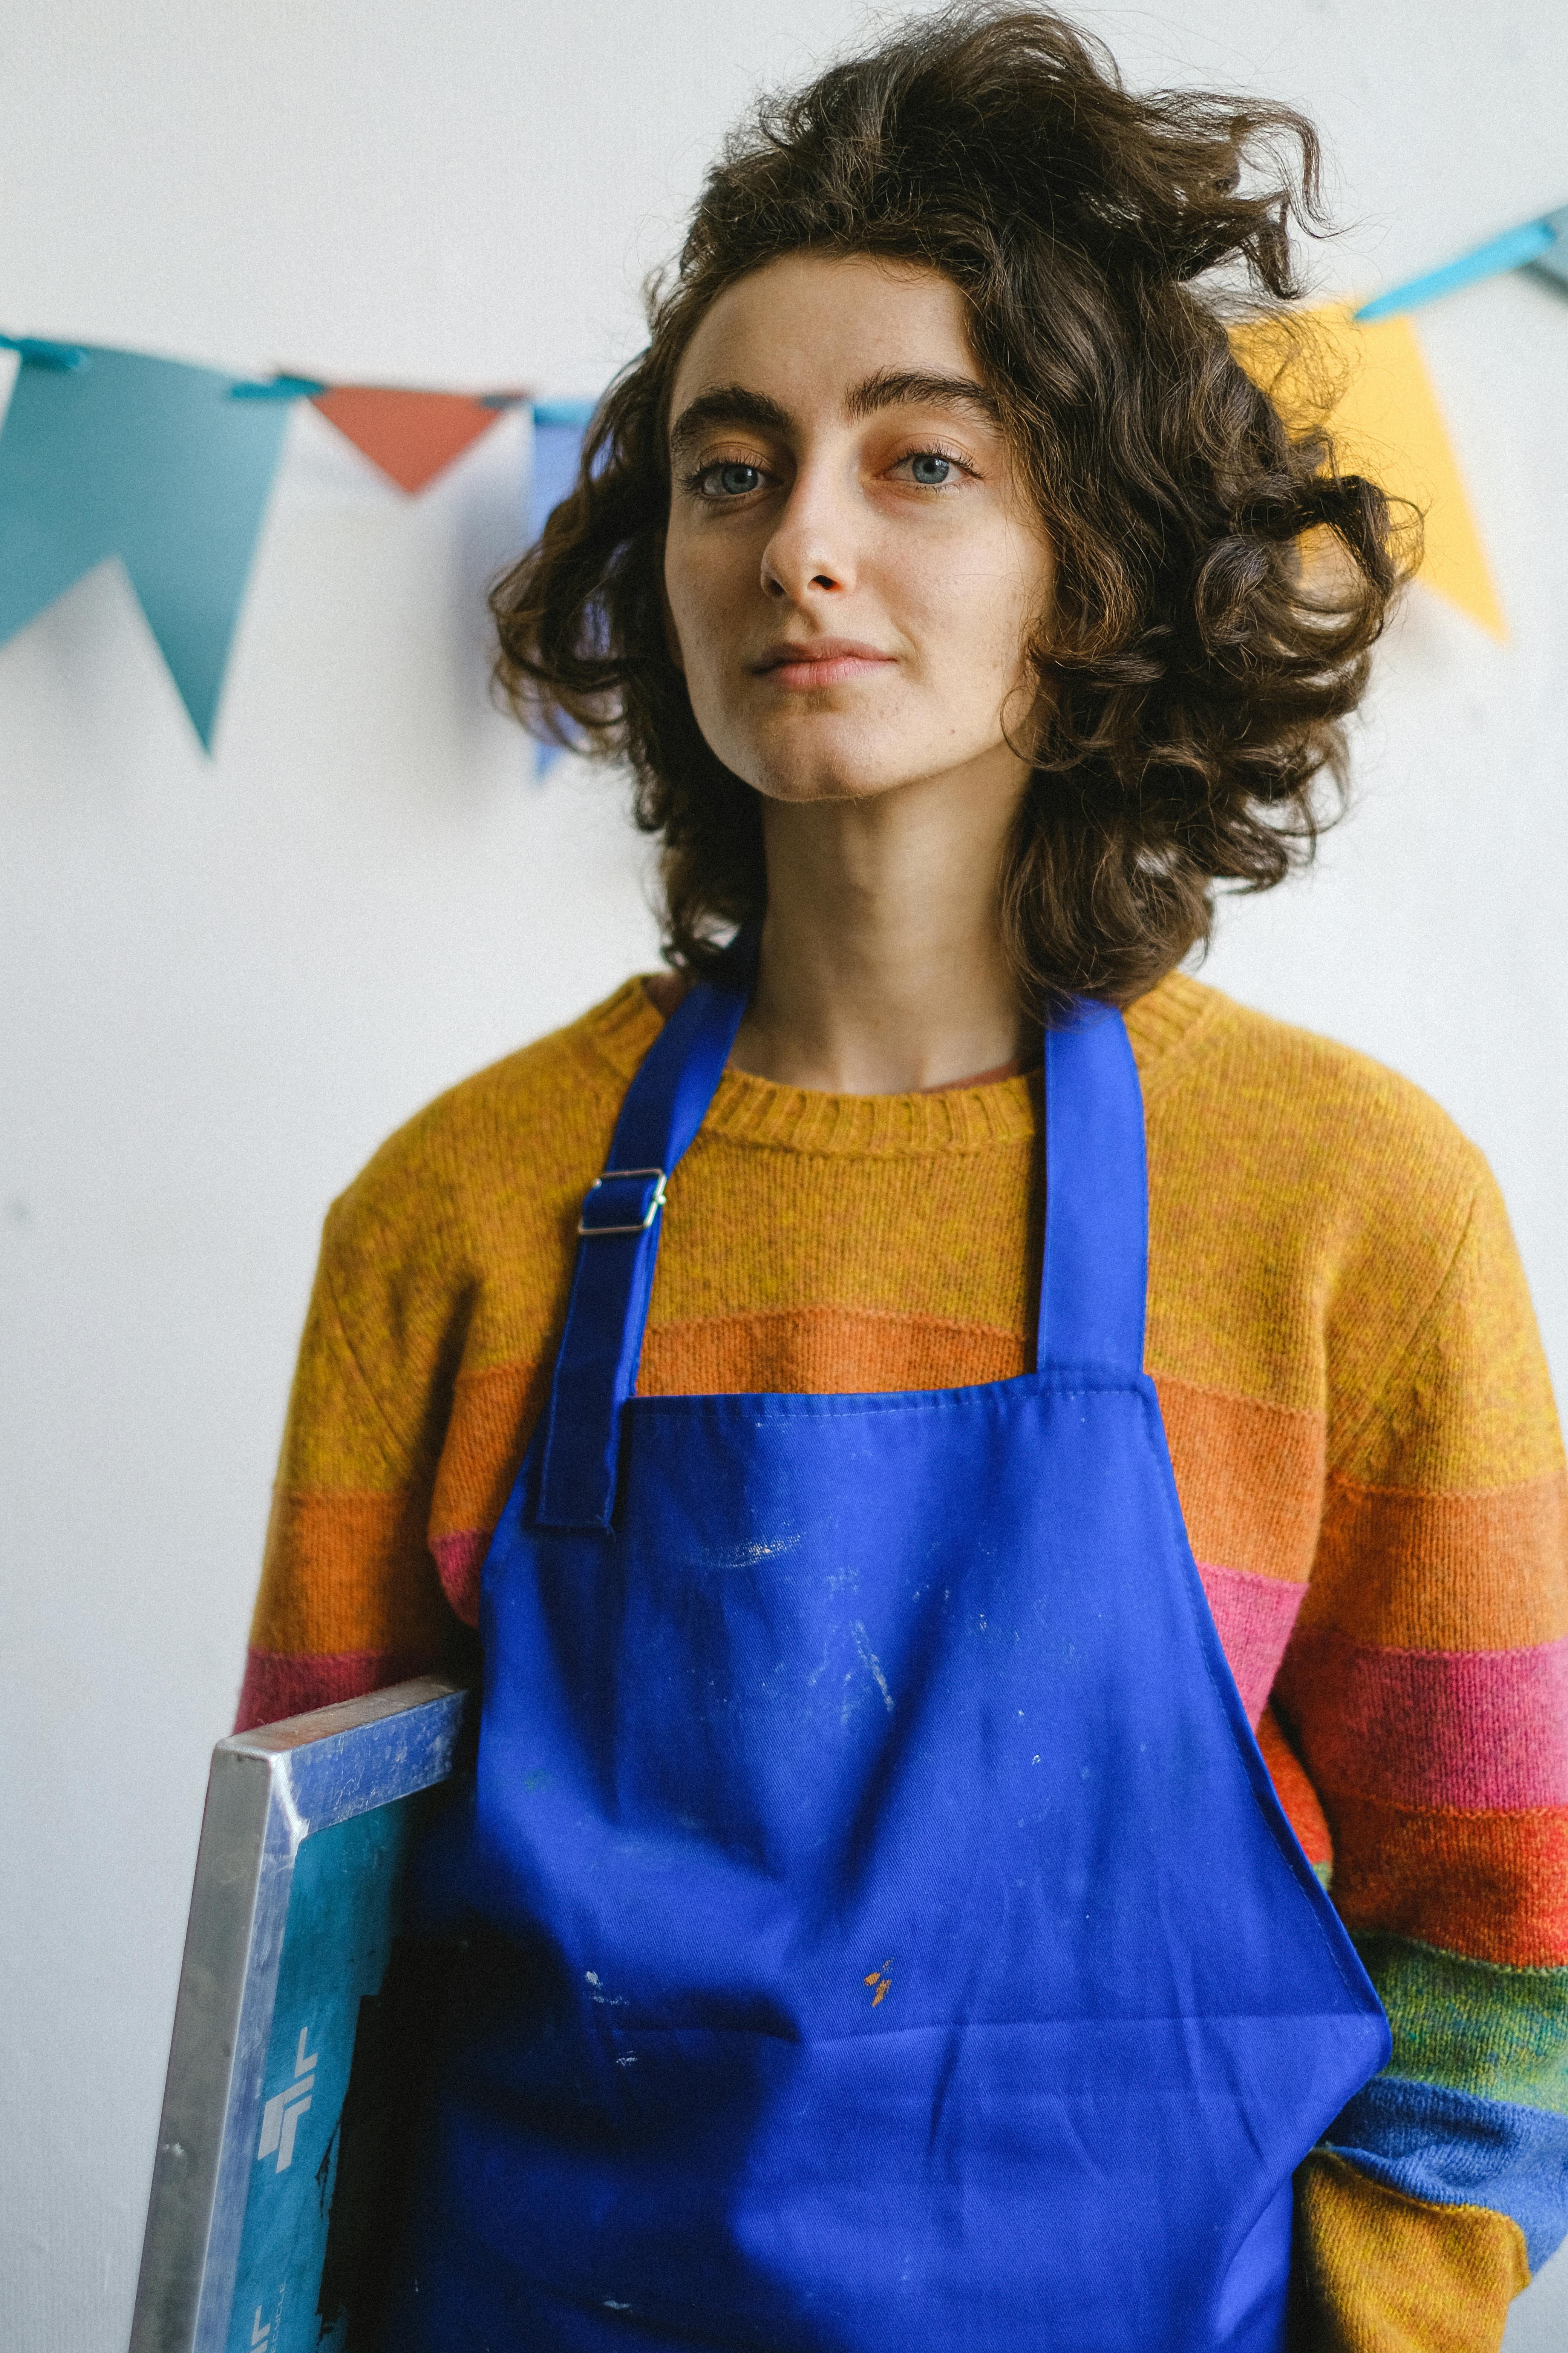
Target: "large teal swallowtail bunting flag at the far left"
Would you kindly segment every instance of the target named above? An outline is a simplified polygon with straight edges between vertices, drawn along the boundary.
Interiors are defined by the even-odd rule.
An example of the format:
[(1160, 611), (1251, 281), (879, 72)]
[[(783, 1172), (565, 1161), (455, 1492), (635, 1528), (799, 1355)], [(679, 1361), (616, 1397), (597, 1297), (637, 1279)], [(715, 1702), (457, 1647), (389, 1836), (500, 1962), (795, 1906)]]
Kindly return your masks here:
[(78, 367), (24, 351), (0, 428), (0, 645), (118, 555), (212, 746), (289, 405), (230, 400), (209, 367), (80, 351)]

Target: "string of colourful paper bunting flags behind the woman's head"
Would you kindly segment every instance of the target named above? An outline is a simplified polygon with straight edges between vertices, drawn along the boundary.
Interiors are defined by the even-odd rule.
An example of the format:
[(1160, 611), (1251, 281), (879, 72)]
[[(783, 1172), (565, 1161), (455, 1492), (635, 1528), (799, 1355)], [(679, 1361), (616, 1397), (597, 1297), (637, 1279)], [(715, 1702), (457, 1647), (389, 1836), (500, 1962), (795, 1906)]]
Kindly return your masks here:
[[(1361, 471), (1425, 513), (1422, 581), (1502, 638), (1486, 548), (1408, 313), (1500, 271), (1568, 296), (1568, 205), (1352, 308), (1307, 313), (1314, 367), (1293, 381), (1269, 329), (1237, 353), (1286, 407), (1340, 379), (1333, 431)], [(308, 400), (390, 482), (437, 480), (498, 416), (529, 412), (524, 529), (534, 541), (576, 478), (592, 402), (522, 391), (402, 391), (277, 374), (237, 379), (99, 344), (0, 334), (19, 358), (0, 426), (0, 645), (87, 572), (118, 558), (190, 722), (212, 748), (223, 673), (296, 402)]]

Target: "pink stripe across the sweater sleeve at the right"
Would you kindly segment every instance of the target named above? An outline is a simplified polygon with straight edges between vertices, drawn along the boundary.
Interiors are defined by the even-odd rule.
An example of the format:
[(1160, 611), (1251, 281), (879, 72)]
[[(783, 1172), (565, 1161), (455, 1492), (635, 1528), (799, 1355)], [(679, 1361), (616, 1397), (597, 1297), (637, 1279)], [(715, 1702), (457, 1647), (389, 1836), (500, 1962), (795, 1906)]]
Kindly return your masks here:
[(1385, 1649), (1309, 1628), (1279, 1687), (1324, 1791), (1486, 1812), (1568, 1805), (1568, 1640)]

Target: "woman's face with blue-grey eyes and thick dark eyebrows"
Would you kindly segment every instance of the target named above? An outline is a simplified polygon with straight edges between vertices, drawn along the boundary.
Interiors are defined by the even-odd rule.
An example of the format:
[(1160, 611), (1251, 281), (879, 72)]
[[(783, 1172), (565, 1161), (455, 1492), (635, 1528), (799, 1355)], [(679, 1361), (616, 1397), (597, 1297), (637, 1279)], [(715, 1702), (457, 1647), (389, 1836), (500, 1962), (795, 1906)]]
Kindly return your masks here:
[(1051, 544), (940, 271), (790, 254), (698, 325), (670, 405), (670, 642), (776, 800), (1023, 781)]

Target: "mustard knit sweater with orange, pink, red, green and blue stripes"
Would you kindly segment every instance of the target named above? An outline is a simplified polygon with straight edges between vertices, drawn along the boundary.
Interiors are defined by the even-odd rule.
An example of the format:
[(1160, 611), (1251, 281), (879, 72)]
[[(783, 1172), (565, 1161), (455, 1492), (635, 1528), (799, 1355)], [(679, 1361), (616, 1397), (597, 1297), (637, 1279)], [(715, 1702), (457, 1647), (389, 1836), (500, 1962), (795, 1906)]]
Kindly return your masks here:
[[(473, 1654), (649, 988), (442, 1096), (327, 1219), (240, 1725)], [(1568, 1513), (1507, 1217), (1410, 1085), (1171, 976), (1128, 1014), (1175, 1480), (1276, 1786), (1394, 2028), (1298, 2181), (1314, 2344), (1495, 2346), (1568, 2226)], [(1030, 1369), (1039, 1080), (726, 1073), (644, 1393)]]

